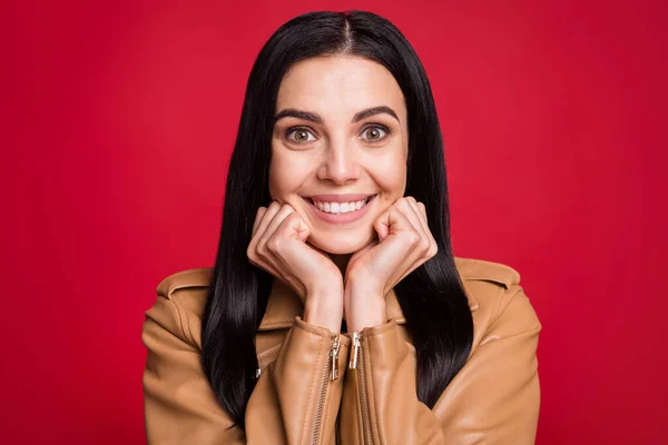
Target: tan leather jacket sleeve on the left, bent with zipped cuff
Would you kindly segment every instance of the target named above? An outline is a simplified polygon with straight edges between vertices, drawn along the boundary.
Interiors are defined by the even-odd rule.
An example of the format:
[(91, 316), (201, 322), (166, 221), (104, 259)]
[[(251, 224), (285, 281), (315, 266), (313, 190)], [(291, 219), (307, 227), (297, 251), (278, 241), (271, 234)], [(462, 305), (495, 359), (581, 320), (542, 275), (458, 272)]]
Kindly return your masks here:
[[(295, 317), (277, 358), (262, 369), (246, 407), (245, 431), (217, 402), (178, 298), (158, 295), (141, 339), (149, 444), (311, 444), (334, 442), (350, 340)], [(332, 354), (335, 339), (338, 355)], [(332, 364), (338, 375), (332, 379)], [(313, 436), (315, 441), (312, 441)]]

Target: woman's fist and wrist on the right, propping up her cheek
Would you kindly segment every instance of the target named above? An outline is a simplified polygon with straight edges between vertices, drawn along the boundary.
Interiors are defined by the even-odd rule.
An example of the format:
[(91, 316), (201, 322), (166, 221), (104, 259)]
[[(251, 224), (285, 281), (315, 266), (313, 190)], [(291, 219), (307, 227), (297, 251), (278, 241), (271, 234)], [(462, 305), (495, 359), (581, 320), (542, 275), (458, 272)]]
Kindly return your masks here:
[(387, 322), (385, 295), (439, 251), (424, 204), (397, 199), (374, 222), (379, 239), (351, 256), (345, 274), (344, 312), (348, 332)]

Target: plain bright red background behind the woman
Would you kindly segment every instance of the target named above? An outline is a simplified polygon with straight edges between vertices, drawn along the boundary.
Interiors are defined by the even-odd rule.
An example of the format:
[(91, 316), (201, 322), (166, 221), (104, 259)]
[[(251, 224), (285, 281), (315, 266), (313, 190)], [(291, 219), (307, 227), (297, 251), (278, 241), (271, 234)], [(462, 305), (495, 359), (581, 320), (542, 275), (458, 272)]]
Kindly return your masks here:
[(213, 264), (250, 66), (289, 18), (347, 8), (392, 20), (428, 70), (455, 255), (515, 267), (543, 323), (538, 443), (666, 435), (660, 2), (21, 1), (2, 443), (145, 441), (144, 310)]

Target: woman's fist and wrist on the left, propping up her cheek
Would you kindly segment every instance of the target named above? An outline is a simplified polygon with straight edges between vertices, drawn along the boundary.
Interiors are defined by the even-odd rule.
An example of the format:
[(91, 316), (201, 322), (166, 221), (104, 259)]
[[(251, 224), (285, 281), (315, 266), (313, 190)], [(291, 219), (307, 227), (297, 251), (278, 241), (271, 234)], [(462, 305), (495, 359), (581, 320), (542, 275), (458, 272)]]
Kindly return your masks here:
[(311, 230), (295, 209), (272, 201), (257, 209), (246, 255), (291, 286), (304, 301), (304, 322), (341, 330), (343, 276), (336, 265), (306, 245)]

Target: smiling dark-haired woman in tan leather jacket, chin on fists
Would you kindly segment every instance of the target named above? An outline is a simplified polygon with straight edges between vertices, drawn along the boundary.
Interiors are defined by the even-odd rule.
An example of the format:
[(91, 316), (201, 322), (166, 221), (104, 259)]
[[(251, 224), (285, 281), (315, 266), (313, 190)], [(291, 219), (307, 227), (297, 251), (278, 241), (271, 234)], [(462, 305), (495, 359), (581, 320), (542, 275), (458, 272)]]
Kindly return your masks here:
[(533, 443), (540, 323), (454, 258), (415, 52), (369, 12), (299, 16), (255, 62), (215, 267), (146, 313), (150, 443)]

